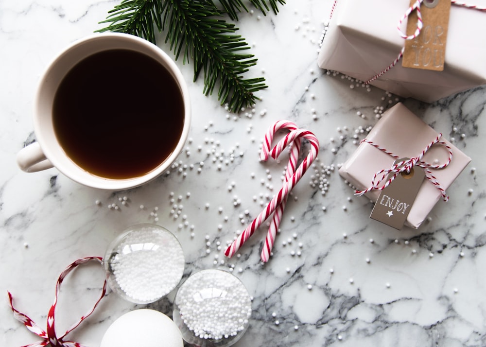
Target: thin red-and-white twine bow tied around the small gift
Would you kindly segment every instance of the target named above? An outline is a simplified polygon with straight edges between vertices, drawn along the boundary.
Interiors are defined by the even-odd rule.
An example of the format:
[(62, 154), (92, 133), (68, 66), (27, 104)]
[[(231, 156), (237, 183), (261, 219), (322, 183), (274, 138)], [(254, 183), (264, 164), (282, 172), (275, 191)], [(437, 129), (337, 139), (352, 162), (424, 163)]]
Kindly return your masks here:
[[(440, 169), (446, 168), (447, 166), (449, 166), (449, 164), (451, 163), (451, 160), (452, 160), (452, 149), (451, 149), (451, 146), (449, 146), (447, 144), (447, 142), (440, 140), (441, 137), (442, 137), (442, 134), (439, 134), (434, 139), (434, 141), (432, 141), (431, 143), (429, 143), (422, 150), (422, 152), (420, 152), (420, 154), (418, 156), (415, 156), (415, 157), (410, 158), (408, 160), (402, 160), (402, 161), (400, 161), (398, 163), (395, 163), (389, 169), (382, 169), (380, 171), (377, 171), (373, 175), (373, 179), (371, 180), (371, 186), (368, 187), (368, 188), (366, 188), (363, 191), (355, 191), (355, 195), (361, 196), (361, 195), (364, 195), (367, 192), (372, 191), (372, 190), (382, 191), (383, 189), (385, 189), (386, 187), (388, 187), (399, 174), (401, 174), (401, 173), (410, 173), (410, 171), (413, 169), (414, 166), (418, 166), (418, 167), (420, 167), (420, 168), (422, 168), (424, 170), (425, 177), (434, 185), (435, 188), (437, 188), (440, 191), (440, 194), (442, 196), (442, 199), (444, 201), (448, 201), (449, 200), (449, 196), (447, 196), (446, 191), (444, 190), (444, 188), (442, 188), (442, 186), (440, 185), (439, 181), (434, 176), (434, 174), (432, 174), (432, 171), (431, 171), (431, 169), (440, 170)], [(389, 156), (394, 157), (395, 159), (399, 159), (400, 158), (400, 156), (397, 156), (397, 155), (393, 154), (392, 152), (386, 150), (385, 148), (377, 145), (373, 141), (370, 141), (368, 139), (363, 139), (363, 140), (361, 140), (361, 142), (369, 143), (373, 147), (378, 148), (382, 152), (388, 154)], [(443, 145), (447, 149), (447, 151), (449, 152), (449, 158), (448, 158), (448, 160), (444, 164), (436, 164), (436, 165), (433, 165), (433, 164), (430, 164), (430, 163), (422, 160), (422, 157), (425, 155), (425, 153), (427, 153), (427, 151), (432, 146), (434, 146), (434, 144), (436, 144), (436, 143), (439, 143), (439, 144)], [(386, 179), (386, 177), (388, 177), (388, 175), (390, 175), (390, 177), (388, 179)], [(385, 181), (385, 179), (386, 179), (386, 181)], [(383, 181), (384, 181), (384, 183), (381, 184)]]

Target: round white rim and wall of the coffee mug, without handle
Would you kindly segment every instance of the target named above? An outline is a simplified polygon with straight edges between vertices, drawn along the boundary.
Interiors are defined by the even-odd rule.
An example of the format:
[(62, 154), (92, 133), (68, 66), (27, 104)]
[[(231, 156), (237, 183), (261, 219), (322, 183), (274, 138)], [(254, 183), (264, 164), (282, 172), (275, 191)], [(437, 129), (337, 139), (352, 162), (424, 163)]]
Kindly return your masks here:
[[(39, 114), (41, 113), (40, 105), (43, 102), (45, 102), (45, 100), (44, 101), (42, 100), (42, 96), (41, 96), (43, 86), (49, 83), (49, 81), (47, 81), (49, 73), (54, 69), (56, 64), (59, 63), (59, 61), (63, 58), (63, 56), (67, 54), (69, 51), (75, 49), (76, 47), (86, 44), (88, 41), (106, 40), (110, 38), (116, 38), (121, 41), (130, 40), (132, 42), (135, 42), (137, 45), (140, 45), (141, 47), (145, 47), (148, 51), (154, 53), (157, 56), (157, 58), (160, 58), (160, 60), (157, 61), (159, 63), (163, 61), (164, 67), (168, 69), (169, 72), (173, 75), (174, 79), (176, 80), (180, 88), (180, 92), (182, 94), (182, 99), (184, 104), (183, 128), (182, 128), (181, 136), (174, 148), (174, 151), (172, 151), (171, 154), (167, 156), (167, 158), (164, 161), (160, 162), (159, 165), (156, 166), (156, 168), (154, 168), (153, 170), (149, 171), (146, 174), (133, 177), (133, 178), (113, 179), (113, 178), (97, 176), (95, 174), (89, 173), (87, 170), (83, 169), (82, 167), (74, 163), (72, 159), (70, 159), (69, 156), (65, 153), (58, 139), (57, 138), (50, 139), (51, 134), (46, 134), (46, 130), (42, 130), (46, 127), (46, 125), (43, 124), (42, 121), (45, 120), (45, 117), (42, 117)], [(110, 49), (113, 48), (107, 48), (107, 50)], [(82, 56), (80, 60), (86, 58), (90, 54), (93, 54), (95, 52), (101, 52), (101, 51), (103, 50), (99, 50), (99, 51), (93, 50), (93, 52), (88, 52), (88, 54)], [(141, 53), (147, 54), (147, 52), (145, 51), (141, 51)], [(72, 68), (75, 64), (76, 62), (71, 64), (70, 68)], [(52, 103), (52, 100), (50, 102)], [(52, 112), (50, 116), (46, 116), (46, 117), (49, 117), (52, 120)], [(187, 139), (189, 137), (190, 126), (191, 126), (191, 100), (189, 96), (189, 89), (179, 67), (175, 64), (174, 60), (161, 48), (135, 35), (123, 34), (123, 33), (101, 33), (101, 34), (92, 34), (92, 35), (84, 36), (80, 39), (71, 42), (68, 46), (66, 46), (59, 53), (57, 53), (55, 57), (52, 59), (52, 61), (47, 65), (47, 68), (44, 70), (43, 74), (41, 75), (41, 79), (39, 80), (38, 87), (36, 89), (35, 104), (34, 104), (34, 132), (35, 132), (35, 137), (42, 149), (42, 152), (44, 153), (46, 158), (49, 161), (51, 161), (53, 167), (56, 168), (59, 172), (69, 177), (73, 181), (91, 188), (97, 188), (103, 190), (125, 190), (125, 189), (138, 187), (142, 184), (145, 184), (155, 179), (159, 175), (163, 174), (164, 172), (166, 172), (171, 168), (176, 158), (182, 152), (187, 142)], [(53, 135), (55, 136), (55, 134)], [(53, 142), (55, 144), (53, 144)], [(53, 148), (52, 146), (54, 147), (57, 146), (57, 148)], [(63, 153), (64, 155), (63, 158), (60, 158), (59, 154), (55, 153), (58, 150)], [(66, 159), (72, 165), (67, 164)]]

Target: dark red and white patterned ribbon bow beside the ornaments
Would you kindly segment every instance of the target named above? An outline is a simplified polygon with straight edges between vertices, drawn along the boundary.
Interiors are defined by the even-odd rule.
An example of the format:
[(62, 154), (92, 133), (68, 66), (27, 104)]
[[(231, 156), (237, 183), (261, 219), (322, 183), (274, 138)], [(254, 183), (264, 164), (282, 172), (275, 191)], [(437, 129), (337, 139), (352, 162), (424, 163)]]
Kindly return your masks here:
[(51, 345), (52, 347), (86, 347), (84, 345), (81, 345), (77, 342), (74, 341), (65, 341), (65, 337), (69, 332), (72, 330), (76, 329), (83, 320), (85, 320), (93, 311), (96, 309), (98, 304), (100, 303), (101, 299), (103, 299), (104, 295), (106, 294), (106, 279), (104, 280), (103, 284), (103, 289), (101, 292), (101, 295), (99, 299), (96, 301), (94, 304), (93, 308), (89, 310), (84, 316), (82, 316), (76, 323), (74, 323), (66, 332), (58, 337), (55, 332), (55, 310), (56, 310), (56, 304), (57, 304), (57, 297), (59, 295), (59, 290), (61, 287), (61, 283), (63, 282), (64, 278), (71, 272), (74, 268), (76, 268), (78, 265), (81, 265), (87, 261), (90, 260), (96, 260), (99, 261), (100, 263), (103, 261), (102, 258), (100, 257), (87, 257), (87, 258), (82, 258), (78, 259), (74, 262), (72, 262), (59, 276), (57, 279), (56, 283), (56, 295), (54, 297), (54, 303), (51, 306), (51, 309), (49, 310), (49, 313), (47, 315), (47, 331), (42, 330), (35, 322), (30, 319), (27, 315), (25, 315), (22, 312), (19, 312), (13, 305), (13, 297), (10, 292), (8, 293), (8, 298), (10, 302), (10, 308), (12, 309), (12, 312), (14, 312), (14, 317), (22, 322), (28, 330), (32, 331), (35, 333), (35, 335), (39, 336), (42, 340), (37, 341), (33, 344), (30, 345), (25, 345), (22, 347), (43, 347), (43, 346), (49, 346)]

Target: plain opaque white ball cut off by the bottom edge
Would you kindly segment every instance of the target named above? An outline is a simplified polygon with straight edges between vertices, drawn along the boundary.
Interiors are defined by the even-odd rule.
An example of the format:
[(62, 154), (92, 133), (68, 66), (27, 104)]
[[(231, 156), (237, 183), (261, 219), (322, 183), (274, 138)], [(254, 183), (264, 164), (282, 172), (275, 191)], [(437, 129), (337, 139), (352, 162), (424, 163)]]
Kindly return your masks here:
[(182, 334), (162, 312), (148, 309), (123, 314), (104, 333), (100, 347), (183, 347)]

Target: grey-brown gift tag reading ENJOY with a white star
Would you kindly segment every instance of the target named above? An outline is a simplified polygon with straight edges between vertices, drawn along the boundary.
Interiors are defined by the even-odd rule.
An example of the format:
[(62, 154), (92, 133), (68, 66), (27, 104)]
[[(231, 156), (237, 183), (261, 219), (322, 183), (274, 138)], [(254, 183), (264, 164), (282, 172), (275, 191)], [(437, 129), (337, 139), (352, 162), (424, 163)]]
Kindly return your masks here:
[[(398, 159), (395, 163), (403, 160), (408, 158)], [(412, 168), (409, 174), (399, 173), (390, 185), (381, 191), (369, 217), (401, 230), (424, 177), (425, 173), (419, 167)]]

